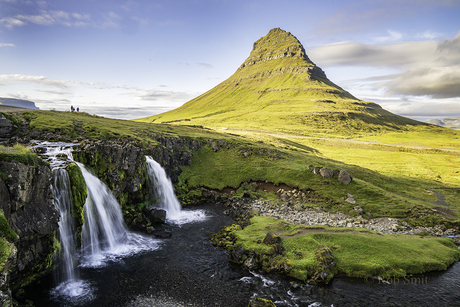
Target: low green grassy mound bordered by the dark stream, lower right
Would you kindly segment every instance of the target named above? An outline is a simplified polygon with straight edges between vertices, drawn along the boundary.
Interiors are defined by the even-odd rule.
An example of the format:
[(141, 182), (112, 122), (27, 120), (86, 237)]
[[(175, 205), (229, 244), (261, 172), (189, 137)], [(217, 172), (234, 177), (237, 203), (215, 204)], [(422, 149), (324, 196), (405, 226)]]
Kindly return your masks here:
[(270, 217), (254, 217), (243, 230), (236, 228), (234, 248), (271, 255), (273, 248), (263, 241), (267, 232), (281, 236), (286, 249), (267, 267), (286, 262), (289, 275), (300, 280), (311, 278), (317, 270), (315, 251), (324, 245), (333, 252), (338, 272), (351, 277), (404, 277), (428, 271), (445, 270), (458, 261), (460, 252), (447, 238), (416, 235), (382, 235), (370, 230), (293, 225)]

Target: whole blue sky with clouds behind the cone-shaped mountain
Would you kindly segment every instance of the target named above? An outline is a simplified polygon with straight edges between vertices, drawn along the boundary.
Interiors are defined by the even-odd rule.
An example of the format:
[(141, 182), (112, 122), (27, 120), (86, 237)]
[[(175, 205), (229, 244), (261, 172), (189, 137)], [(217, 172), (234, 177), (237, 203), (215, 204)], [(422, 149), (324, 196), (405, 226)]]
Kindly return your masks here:
[(272, 28), (355, 97), (460, 116), (460, 0), (0, 0), (0, 97), (133, 119), (230, 77)]

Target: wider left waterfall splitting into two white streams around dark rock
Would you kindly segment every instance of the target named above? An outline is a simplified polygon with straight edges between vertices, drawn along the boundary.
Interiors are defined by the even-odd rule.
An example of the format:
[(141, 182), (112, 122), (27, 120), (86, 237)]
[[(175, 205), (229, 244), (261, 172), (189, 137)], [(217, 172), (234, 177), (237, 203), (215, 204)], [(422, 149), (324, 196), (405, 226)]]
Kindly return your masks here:
[[(129, 232), (117, 200), (97, 177), (72, 157), (70, 143), (43, 142), (36, 147), (46, 148), (44, 153), (54, 174), (51, 185), (56, 209), (60, 213), (59, 241), (61, 243), (58, 286), (52, 297), (72, 303), (83, 303), (94, 298), (95, 288), (80, 278), (79, 267), (101, 267), (109, 261), (119, 261), (142, 251), (155, 250), (159, 240)], [(76, 163), (87, 185), (88, 197), (83, 209), (81, 251), (76, 250), (75, 219), (72, 215), (70, 180), (66, 165)]]

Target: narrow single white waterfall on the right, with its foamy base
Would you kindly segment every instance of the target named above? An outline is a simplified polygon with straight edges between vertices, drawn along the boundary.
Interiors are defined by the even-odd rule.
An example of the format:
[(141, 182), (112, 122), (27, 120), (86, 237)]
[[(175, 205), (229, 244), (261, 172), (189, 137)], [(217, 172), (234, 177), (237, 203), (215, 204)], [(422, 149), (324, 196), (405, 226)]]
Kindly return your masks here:
[(174, 187), (171, 179), (166, 175), (165, 170), (161, 165), (146, 156), (147, 173), (153, 183), (154, 191), (158, 198), (159, 203), (157, 208), (166, 211), (166, 221), (176, 225), (182, 225), (190, 222), (204, 221), (207, 216), (203, 210), (183, 210), (179, 200), (174, 193)]

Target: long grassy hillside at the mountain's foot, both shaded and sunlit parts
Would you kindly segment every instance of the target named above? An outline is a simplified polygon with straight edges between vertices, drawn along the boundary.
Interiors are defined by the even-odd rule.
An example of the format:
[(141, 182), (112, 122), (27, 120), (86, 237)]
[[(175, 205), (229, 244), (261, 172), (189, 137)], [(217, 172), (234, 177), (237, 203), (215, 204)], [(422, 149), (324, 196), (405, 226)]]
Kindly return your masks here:
[[(356, 145), (347, 140), (288, 139), (267, 134), (219, 133), (209, 129), (167, 124), (146, 124), (107, 119), (77, 112), (26, 111), (9, 116), (29, 122), (30, 131), (49, 132), (66, 140), (89, 138), (127, 139), (141, 146), (158, 145), (155, 137), (196, 139), (203, 143), (194, 152), (192, 165), (182, 168), (177, 192), (185, 196), (200, 187), (248, 189), (251, 181), (284, 183), (310, 189), (314, 197), (306, 206), (323, 206), (331, 212), (354, 215), (354, 205), (343, 201), (347, 193), (370, 217), (406, 218), (411, 223), (452, 225), (459, 221), (460, 182), (458, 152), (399, 150), (392, 146)], [(218, 150), (212, 141), (223, 144)], [(328, 143), (331, 142), (331, 143)], [(354, 181), (349, 186), (314, 175), (309, 166), (347, 169)], [(437, 196), (445, 195), (450, 207), (433, 211)], [(261, 197), (274, 195), (260, 194)]]

